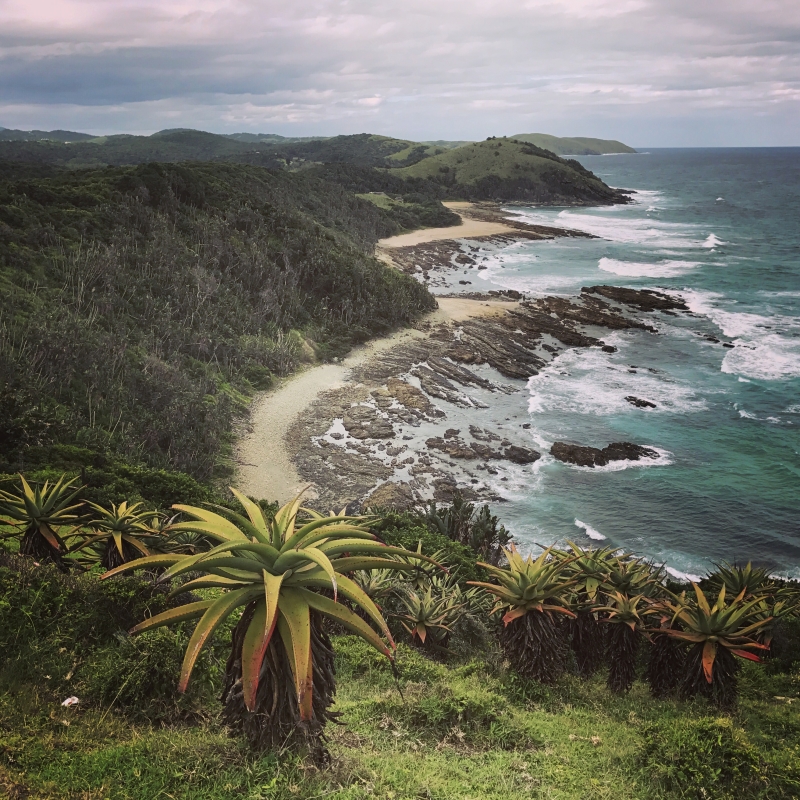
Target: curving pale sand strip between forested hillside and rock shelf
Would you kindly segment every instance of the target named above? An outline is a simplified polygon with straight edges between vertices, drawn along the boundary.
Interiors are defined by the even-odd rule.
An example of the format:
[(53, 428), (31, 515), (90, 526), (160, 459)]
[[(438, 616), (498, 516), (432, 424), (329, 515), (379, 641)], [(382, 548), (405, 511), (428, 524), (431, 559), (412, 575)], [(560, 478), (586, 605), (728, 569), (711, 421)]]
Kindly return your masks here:
[[(434, 324), (458, 322), (469, 317), (499, 314), (513, 305), (499, 301), (440, 298), (439, 309), (425, 317), (425, 321)], [(250, 431), (242, 437), (237, 448), (237, 488), (252, 497), (279, 503), (294, 497), (305, 488), (305, 484), (289, 457), (285, 437), (297, 415), (320, 393), (341, 387), (353, 367), (397, 344), (425, 336), (415, 329), (397, 331), (354, 349), (339, 364), (309, 367), (287, 378), (277, 389), (258, 396), (250, 414)], [(309, 497), (312, 496), (309, 493)]]

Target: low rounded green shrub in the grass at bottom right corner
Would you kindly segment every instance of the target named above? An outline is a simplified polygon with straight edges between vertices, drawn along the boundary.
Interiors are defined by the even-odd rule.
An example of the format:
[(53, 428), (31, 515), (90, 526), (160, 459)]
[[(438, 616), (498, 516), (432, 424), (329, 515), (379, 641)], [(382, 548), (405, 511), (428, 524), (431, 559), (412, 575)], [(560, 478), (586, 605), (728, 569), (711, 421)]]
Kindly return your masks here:
[(648, 724), (642, 730), (637, 760), (642, 780), (655, 797), (767, 796), (769, 776), (759, 752), (728, 717), (685, 716)]

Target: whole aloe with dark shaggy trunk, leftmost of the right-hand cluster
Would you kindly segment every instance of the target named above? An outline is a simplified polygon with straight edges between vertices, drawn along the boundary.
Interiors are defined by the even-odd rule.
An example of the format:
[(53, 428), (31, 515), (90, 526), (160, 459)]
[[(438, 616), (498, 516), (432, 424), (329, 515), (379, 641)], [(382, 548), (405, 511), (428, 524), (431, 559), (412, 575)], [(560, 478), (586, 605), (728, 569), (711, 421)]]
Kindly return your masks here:
[(508, 567), (481, 564), (497, 583), (469, 581), (496, 597), (494, 613), (503, 615), (500, 642), (514, 669), (525, 678), (555, 682), (564, 672), (566, 644), (556, 615), (575, 617), (568, 608), (574, 580), (565, 563), (545, 550), (537, 559), (523, 558), (512, 544), (505, 550)]

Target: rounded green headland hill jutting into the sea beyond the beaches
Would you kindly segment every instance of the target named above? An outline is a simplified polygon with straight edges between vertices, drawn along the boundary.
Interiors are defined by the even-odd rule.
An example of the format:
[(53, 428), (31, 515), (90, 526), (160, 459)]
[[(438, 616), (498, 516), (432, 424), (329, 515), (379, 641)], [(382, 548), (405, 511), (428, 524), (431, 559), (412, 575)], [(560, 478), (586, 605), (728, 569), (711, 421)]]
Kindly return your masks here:
[(393, 170), (393, 174), (436, 183), (454, 199), (626, 202), (625, 195), (606, 186), (577, 161), (515, 139), (493, 138), (465, 145)]

